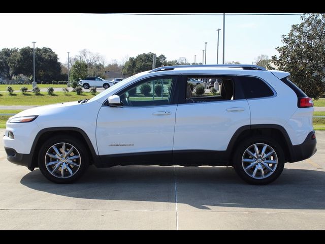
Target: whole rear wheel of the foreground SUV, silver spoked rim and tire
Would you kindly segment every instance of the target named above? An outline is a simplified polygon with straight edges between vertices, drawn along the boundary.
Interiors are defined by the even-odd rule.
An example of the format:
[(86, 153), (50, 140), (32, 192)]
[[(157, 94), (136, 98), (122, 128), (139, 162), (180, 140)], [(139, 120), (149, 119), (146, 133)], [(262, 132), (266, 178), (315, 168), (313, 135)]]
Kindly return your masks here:
[(284, 168), (284, 153), (273, 139), (253, 137), (241, 142), (233, 158), (237, 174), (252, 185), (267, 185)]

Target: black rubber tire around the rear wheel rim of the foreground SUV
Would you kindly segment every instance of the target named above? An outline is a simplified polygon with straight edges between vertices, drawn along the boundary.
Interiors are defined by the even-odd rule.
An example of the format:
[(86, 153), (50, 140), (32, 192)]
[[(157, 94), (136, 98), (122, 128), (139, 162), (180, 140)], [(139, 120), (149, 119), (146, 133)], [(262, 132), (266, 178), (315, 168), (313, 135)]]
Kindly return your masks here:
[[(267, 168), (265, 168), (265, 166), (263, 166), (263, 161), (260, 162), (263, 157), (261, 157), (261, 159), (259, 159), (258, 157), (257, 160), (259, 161), (259, 163), (256, 164), (255, 162), (252, 163), (242, 163), (242, 159), (245, 158), (246, 156), (244, 156), (244, 153), (246, 154), (246, 149), (248, 149), (250, 146), (254, 145), (254, 144), (266, 144), (270, 147), (268, 147), (268, 149), (272, 148), (275, 151), (275, 156), (277, 158), (277, 164), (276, 164), (276, 168), (273, 171), (269, 171)], [(262, 147), (262, 145), (261, 145)], [(261, 148), (260, 147), (260, 148)], [(261, 149), (258, 150), (259, 153), (261, 153)], [(255, 151), (252, 151), (252, 153), (255, 153)], [(253, 157), (251, 157), (251, 160), (255, 160)], [(274, 159), (274, 158), (273, 158)], [(253, 171), (256, 167), (264, 167), (264, 169), (266, 170), (266, 172), (271, 173), (268, 177), (265, 178), (254, 178), (250, 175), (248, 175), (248, 173), (246, 173), (246, 171), (244, 170), (244, 166), (243, 164), (252, 164), (253, 166), (248, 170), (249, 172)], [(259, 166), (259, 165), (260, 166)], [(257, 166), (256, 166), (257, 165)], [(270, 184), (271, 182), (273, 182), (274, 180), (276, 180), (280, 174), (283, 171), (284, 168), (284, 153), (283, 150), (281, 148), (281, 146), (279, 145), (279, 143), (277, 143), (276, 141), (274, 141), (273, 139), (268, 139), (265, 137), (261, 137), (261, 136), (254, 136), (251, 138), (247, 138), (243, 141), (240, 142), (238, 148), (236, 149), (235, 155), (233, 157), (233, 166), (235, 168), (235, 171), (237, 172), (237, 174), (244, 180), (246, 181), (248, 184), (251, 185), (267, 185)], [(245, 167), (247, 168), (247, 166), (245, 165)], [(274, 165), (271, 164), (271, 168), (274, 167)], [(258, 171), (256, 170), (256, 172), (261, 172), (262, 170)], [(263, 170), (264, 172), (264, 170)], [(262, 172), (261, 172), (262, 175)], [(262, 176), (261, 176), (262, 177)]]

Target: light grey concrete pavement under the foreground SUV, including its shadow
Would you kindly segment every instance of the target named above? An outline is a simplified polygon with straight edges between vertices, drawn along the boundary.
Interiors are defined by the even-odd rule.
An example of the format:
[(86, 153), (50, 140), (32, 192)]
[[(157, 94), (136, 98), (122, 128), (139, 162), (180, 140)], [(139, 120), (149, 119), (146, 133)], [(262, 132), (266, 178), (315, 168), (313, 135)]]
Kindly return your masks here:
[(267, 186), (231, 167), (180, 166), (90, 166), (56, 185), (8, 162), (1, 140), (0, 229), (324, 230), (325, 132), (316, 135), (317, 153)]

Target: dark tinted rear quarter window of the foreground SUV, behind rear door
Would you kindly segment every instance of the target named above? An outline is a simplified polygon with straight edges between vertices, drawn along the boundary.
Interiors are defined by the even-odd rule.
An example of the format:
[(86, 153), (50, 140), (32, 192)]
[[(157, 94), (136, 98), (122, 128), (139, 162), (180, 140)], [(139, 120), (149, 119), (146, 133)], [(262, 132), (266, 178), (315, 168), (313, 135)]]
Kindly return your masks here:
[(246, 99), (266, 98), (274, 95), (273, 90), (261, 79), (249, 76), (238, 77)]

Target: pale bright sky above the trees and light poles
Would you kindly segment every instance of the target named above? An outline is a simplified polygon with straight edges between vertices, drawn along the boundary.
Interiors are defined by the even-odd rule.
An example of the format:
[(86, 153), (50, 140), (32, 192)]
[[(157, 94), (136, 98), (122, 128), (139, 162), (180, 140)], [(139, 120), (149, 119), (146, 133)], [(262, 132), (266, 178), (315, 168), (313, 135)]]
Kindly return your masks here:
[[(108, 63), (140, 53), (164, 54), (167, 60), (186, 57), (202, 62), (207, 42), (207, 64), (222, 64), (222, 16), (148, 16), (110, 14), (0, 14), (0, 49), (8, 47), (49, 47), (66, 63), (81, 49), (99, 52)], [(281, 36), (299, 15), (226, 16), (225, 62), (252, 64), (256, 57), (276, 55)]]

